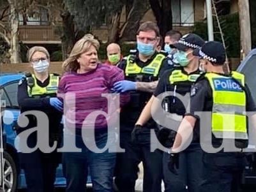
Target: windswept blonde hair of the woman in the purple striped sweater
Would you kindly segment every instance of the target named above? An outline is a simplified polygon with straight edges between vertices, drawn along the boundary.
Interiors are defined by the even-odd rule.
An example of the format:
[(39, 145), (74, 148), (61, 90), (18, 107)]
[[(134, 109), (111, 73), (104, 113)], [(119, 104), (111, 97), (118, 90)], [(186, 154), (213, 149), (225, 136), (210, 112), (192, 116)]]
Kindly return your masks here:
[(100, 42), (94, 39), (94, 36), (92, 34), (86, 34), (83, 38), (77, 41), (77, 43), (75, 43), (74, 47), (72, 48), (68, 59), (63, 62), (63, 71), (77, 71), (80, 68), (77, 59), (80, 57), (81, 54), (87, 52), (91, 46), (95, 47), (97, 51), (100, 47)]

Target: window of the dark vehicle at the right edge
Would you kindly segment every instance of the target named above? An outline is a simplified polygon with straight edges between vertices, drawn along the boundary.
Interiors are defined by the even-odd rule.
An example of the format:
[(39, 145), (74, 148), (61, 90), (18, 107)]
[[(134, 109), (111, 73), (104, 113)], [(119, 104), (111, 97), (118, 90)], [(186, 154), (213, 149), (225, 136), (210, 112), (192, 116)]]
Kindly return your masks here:
[(245, 74), (246, 84), (252, 92), (253, 100), (256, 102), (256, 83), (255, 83), (255, 71), (256, 71), (256, 55), (253, 55), (245, 64), (245, 67), (241, 70)]

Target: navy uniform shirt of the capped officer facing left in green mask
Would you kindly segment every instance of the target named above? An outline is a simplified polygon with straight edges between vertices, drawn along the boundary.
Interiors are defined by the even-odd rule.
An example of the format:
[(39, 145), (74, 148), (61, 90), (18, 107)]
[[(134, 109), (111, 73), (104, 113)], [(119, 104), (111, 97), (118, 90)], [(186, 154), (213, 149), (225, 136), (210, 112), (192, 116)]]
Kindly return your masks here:
[[(184, 96), (186, 93), (190, 92), (192, 85), (194, 82), (189, 80), (181, 81), (181, 82), (174, 82), (174, 84), (170, 83), (169, 77), (172, 75), (174, 70), (181, 70), (185, 75), (198, 75), (200, 73), (199, 70), (193, 71), (192, 73), (187, 73), (183, 67), (174, 67), (171, 70), (165, 71), (162, 77), (160, 78), (158, 85), (156, 87), (156, 91), (154, 91), (154, 96), (157, 97), (158, 95), (162, 94), (165, 91), (174, 91), (174, 87), (176, 87), (176, 92)], [(169, 96), (169, 112), (176, 113), (178, 115), (184, 115), (186, 113), (186, 109), (183, 103), (174, 96)]]

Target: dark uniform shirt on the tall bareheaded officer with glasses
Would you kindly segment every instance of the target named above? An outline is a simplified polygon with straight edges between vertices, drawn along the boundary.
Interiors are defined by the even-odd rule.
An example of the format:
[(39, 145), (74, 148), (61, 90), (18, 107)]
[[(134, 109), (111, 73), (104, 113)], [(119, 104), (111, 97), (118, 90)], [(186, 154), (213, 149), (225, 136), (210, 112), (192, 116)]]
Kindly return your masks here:
[[(144, 62), (144, 61), (140, 61), (140, 59), (139, 59), (139, 52), (137, 52), (134, 63), (136, 63), (140, 68), (144, 68), (144, 66), (147, 66), (149, 63), (151, 63), (153, 61), (154, 57), (156, 57), (157, 54), (160, 54), (160, 53), (155, 52), (150, 59), (148, 59), (146, 62)], [(169, 63), (170, 62), (169, 62), (169, 59), (167, 59), (167, 57), (165, 59), (163, 59), (163, 63), (162, 63), (162, 66), (160, 68), (160, 72), (158, 74), (158, 77), (161, 77), (162, 74), (166, 70), (169, 70), (170, 68), (172, 68), (172, 65), (170, 65)], [(125, 71), (126, 59), (123, 59), (120, 62), (120, 64), (118, 65), (118, 67), (121, 68), (121, 70)]]

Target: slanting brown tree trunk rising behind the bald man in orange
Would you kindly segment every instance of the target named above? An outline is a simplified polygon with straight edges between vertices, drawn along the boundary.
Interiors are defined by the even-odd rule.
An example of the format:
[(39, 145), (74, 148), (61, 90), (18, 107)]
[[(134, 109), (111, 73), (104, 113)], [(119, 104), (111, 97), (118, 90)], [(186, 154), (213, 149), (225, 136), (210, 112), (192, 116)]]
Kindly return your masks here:
[(127, 21), (121, 29), (121, 41), (136, 40), (136, 33), (140, 25), (140, 20), (148, 11), (148, 1), (134, 0), (132, 9), (128, 15)]

